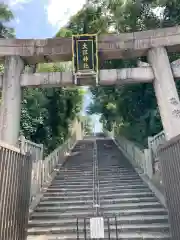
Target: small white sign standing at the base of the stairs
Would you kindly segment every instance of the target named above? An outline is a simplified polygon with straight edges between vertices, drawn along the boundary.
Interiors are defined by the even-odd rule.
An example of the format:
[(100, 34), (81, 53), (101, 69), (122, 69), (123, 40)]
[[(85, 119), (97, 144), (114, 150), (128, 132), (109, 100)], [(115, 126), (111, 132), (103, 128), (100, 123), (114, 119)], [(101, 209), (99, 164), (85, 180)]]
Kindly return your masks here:
[(104, 219), (102, 217), (90, 218), (91, 238), (104, 238)]

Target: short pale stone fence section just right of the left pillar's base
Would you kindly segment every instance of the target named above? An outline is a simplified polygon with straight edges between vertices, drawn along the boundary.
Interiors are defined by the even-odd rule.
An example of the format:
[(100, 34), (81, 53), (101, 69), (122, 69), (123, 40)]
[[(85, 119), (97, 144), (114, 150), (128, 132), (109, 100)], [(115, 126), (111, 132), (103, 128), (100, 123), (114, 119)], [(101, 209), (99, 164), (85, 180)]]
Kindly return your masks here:
[(19, 138), (19, 146), (22, 153), (30, 153), (33, 162), (43, 160), (43, 144), (37, 144), (27, 140), (24, 136)]

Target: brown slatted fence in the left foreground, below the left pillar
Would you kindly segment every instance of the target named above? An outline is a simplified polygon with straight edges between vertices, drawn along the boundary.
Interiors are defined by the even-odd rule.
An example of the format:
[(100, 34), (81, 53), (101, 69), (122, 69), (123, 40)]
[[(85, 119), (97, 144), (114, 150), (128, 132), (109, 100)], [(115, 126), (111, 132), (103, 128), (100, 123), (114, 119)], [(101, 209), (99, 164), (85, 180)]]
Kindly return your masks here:
[(0, 142), (0, 238), (26, 239), (32, 160)]

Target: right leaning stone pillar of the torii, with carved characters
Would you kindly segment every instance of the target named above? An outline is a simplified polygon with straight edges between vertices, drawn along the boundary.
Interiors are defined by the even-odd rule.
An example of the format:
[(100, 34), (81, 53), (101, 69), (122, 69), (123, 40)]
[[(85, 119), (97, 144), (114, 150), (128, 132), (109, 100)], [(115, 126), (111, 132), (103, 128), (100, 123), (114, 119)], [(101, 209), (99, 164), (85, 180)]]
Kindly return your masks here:
[(154, 71), (154, 90), (166, 139), (169, 140), (180, 134), (180, 101), (166, 49), (149, 50), (148, 61)]

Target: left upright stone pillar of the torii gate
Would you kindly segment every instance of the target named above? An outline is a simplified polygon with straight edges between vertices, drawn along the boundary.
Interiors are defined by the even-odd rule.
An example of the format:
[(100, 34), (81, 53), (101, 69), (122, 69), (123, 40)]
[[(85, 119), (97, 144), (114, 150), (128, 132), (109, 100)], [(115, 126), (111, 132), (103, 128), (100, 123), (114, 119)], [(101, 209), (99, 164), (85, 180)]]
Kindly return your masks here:
[(21, 115), (20, 75), (24, 63), (18, 56), (6, 57), (2, 84), (0, 139), (17, 145)]

